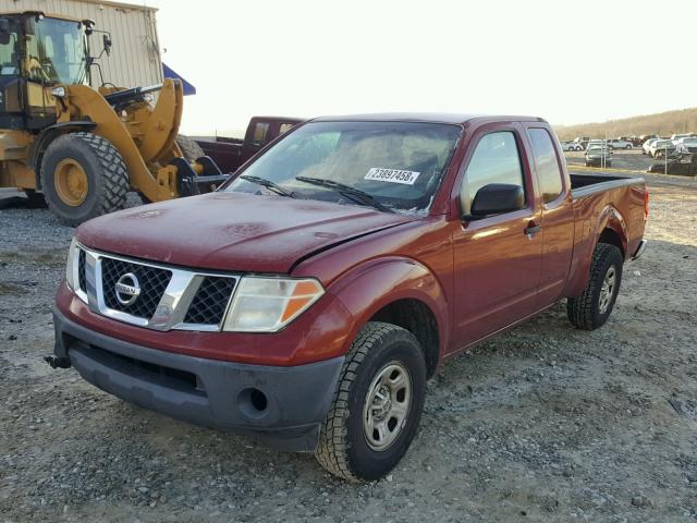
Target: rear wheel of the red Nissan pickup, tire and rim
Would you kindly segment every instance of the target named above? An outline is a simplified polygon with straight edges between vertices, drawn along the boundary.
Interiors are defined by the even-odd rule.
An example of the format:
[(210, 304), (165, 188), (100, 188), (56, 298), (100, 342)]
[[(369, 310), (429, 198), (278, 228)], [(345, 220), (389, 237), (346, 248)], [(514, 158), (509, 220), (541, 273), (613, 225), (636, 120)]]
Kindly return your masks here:
[(576, 328), (595, 330), (606, 324), (620, 292), (623, 264), (622, 252), (617, 247), (598, 244), (586, 289), (580, 296), (566, 300), (566, 315)]

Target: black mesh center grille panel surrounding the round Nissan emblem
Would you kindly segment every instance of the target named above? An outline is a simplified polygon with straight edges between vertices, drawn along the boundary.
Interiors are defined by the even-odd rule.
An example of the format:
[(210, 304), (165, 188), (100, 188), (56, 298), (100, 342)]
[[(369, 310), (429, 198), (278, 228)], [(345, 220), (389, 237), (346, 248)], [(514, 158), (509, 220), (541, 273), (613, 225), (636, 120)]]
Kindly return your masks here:
[[(117, 300), (115, 284), (119, 278), (129, 272), (138, 278), (140, 294), (131, 305), (123, 305)], [(114, 258), (101, 259), (101, 284), (106, 305), (138, 318), (152, 317), (171, 279), (171, 270)]]

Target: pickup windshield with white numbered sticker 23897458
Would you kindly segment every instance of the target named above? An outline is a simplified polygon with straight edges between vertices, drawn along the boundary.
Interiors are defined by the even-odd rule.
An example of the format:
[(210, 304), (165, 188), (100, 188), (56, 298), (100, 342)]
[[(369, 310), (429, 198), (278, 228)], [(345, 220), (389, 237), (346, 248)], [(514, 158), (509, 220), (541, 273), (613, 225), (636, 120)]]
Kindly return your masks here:
[[(461, 131), (442, 123), (310, 122), (271, 147), (243, 175), (271, 181), (296, 198), (360, 204), (348, 186), (377, 200), (374, 207), (425, 214)], [(258, 180), (242, 177), (225, 191), (270, 194)]]

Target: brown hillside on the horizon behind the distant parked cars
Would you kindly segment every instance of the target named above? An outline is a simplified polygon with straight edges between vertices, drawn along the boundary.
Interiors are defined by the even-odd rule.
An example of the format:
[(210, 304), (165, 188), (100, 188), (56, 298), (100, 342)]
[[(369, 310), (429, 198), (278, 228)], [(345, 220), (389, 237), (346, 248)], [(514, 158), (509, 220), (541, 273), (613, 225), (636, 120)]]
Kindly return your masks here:
[(555, 125), (554, 130), (560, 139), (573, 139), (576, 136), (591, 138), (616, 138), (617, 136), (639, 136), (641, 134), (658, 134), (670, 136), (673, 133), (697, 132), (697, 107), (680, 111), (660, 112), (644, 117), (610, 120), (608, 122), (582, 123), (578, 125)]

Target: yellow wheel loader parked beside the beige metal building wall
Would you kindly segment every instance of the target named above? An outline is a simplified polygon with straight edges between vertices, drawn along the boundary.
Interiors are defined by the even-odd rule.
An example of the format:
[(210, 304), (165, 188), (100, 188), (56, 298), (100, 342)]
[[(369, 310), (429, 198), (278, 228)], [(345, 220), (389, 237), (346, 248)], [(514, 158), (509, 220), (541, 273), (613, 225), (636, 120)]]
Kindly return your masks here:
[[(227, 178), (193, 141), (180, 141), (179, 80), (148, 87), (89, 87), (89, 20), (0, 14), (0, 187), (44, 200), (76, 226), (124, 207), (215, 188)], [(101, 56), (101, 54), (100, 54)], [(152, 98), (157, 95), (157, 102)]]

